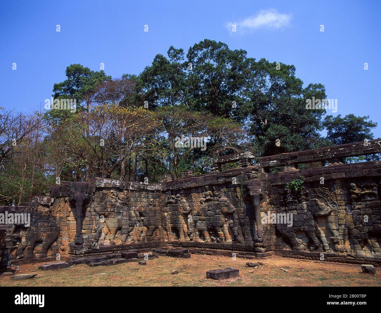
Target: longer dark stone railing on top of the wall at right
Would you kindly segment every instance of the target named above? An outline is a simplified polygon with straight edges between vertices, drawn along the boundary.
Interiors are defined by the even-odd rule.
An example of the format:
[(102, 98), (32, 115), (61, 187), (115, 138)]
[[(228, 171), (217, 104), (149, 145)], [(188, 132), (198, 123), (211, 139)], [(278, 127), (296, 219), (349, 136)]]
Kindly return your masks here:
[[(268, 172), (269, 168), (284, 166), (285, 172), (298, 171), (298, 164), (328, 161), (328, 165), (343, 164), (343, 159), (351, 156), (369, 155), (381, 152), (381, 139), (356, 142), (355, 144), (335, 145), (320, 149), (281, 153), (259, 158), (259, 169)], [(323, 164), (321, 164), (323, 166)]]

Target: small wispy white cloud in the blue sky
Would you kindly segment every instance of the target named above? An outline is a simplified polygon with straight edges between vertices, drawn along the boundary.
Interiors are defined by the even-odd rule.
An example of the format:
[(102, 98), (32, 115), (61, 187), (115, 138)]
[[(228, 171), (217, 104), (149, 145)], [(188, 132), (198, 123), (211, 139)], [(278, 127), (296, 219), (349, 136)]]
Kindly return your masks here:
[(232, 29), (233, 25), (237, 30), (255, 30), (260, 27), (279, 29), (290, 25), (291, 14), (282, 14), (275, 9), (261, 10), (256, 15), (252, 15), (239, 22), (227, 23), (227, 28)]

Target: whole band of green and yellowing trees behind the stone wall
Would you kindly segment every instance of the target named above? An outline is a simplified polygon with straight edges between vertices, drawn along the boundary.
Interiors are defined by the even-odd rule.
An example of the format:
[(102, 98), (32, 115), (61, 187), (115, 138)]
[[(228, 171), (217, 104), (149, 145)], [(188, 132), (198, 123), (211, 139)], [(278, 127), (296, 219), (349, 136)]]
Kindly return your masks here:
[(259, 158), (373, 139), (369, 116), (306, 109), (326, 99), (325, 87), (295, 71), (209, 39), (187, 53), (170, 46), (139, 75), (71, 64), (52, 97), (75, 100), (76, 110), (0, 113), (0, 204), (46, 193), (57, 177), (157, 182), (206, 173), (216, 156), (244, 150)]

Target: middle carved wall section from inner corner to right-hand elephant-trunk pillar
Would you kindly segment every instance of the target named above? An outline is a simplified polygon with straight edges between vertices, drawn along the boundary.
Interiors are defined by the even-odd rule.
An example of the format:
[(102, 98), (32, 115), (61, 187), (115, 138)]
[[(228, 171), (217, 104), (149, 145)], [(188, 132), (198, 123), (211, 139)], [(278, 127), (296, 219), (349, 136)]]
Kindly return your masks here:
[[(256, 177), (256, 169), (241, 168), (163, 183), (164, 240), (170, 246), (209, 254), (271, 255), (267, 232), (258, 235), (261, 220), (255, 208), (259, 213), (262, 191), (249, 192), (255, 193), (251, 182)], [(258, 197), (256, 206), (253, 197)]]

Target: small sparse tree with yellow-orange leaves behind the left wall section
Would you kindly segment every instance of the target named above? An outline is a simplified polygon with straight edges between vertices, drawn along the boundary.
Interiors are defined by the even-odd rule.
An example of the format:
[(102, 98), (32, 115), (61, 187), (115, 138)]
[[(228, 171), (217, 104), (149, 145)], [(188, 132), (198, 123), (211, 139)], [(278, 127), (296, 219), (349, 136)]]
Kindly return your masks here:
[(88, 163), (92, 174), (121, 179), (123, 161), (132, 154), (143, 153), (147, 138), (152, 137), (157, 126), (148, 110), (115, 104), (91, 106), (88, 114), (78, 114), (77, 125), (87, 127), (85, 122), (88, 134), (83, 135), (83, 140), (90, 150)]

